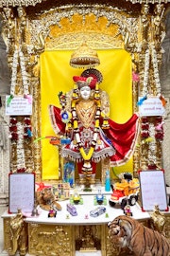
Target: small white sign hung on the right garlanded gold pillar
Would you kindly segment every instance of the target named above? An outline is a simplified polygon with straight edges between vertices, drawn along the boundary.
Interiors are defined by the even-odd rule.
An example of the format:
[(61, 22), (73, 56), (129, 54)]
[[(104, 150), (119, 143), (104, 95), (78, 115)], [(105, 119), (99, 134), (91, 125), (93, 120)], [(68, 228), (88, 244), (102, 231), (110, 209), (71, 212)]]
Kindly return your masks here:
[(139, 106), (142, 117), (163, 116), (165, 112), (161, 100), (158, 97), (150, 97)]

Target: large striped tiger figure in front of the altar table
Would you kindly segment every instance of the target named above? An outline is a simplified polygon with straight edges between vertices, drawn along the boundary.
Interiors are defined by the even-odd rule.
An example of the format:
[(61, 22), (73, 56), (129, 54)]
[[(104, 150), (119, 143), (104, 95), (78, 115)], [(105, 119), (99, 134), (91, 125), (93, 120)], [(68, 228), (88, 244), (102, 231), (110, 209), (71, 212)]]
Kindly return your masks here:
[(136, 256), (170, 256), (168, 239), (131, 217), (118, 216), (108, 226), (111, 242), (128, 247)]

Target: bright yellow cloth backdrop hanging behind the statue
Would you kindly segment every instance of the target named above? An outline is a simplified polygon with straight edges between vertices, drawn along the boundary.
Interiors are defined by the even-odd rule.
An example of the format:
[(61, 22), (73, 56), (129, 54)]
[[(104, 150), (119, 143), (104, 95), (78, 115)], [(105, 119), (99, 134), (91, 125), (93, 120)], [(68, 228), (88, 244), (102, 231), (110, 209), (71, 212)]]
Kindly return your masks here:
[[(84, 70), (70, 66), (73, 51), (45, 51), (41, 55), (41, 102), (42, 137), (55, 136), (48, 113), (48, 105), (59, 106), (58, 94), (73, 89), (73, 76), (79, 76)], [(110, 119), (124, 123), (132, 115), (132, 77), (131, 58), (123, 49), (98, 50), (100, 65), (96, 67), (102, 75), (99, 85), (110, 96)], [(132, 160), (126, 165), (115, 167), (116, 174), (132, 172)], [(59, 178), (58, 148), (42, 139), (42, 179)]]

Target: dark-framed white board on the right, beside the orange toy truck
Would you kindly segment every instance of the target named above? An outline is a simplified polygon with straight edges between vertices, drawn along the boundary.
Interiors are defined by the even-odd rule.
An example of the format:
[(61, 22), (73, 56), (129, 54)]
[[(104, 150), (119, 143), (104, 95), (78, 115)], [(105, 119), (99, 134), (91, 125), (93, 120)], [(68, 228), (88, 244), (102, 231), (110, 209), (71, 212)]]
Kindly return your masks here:
[(139, 171), (142, 210), (152, 211), (156, 205), (168, 211), (164, 171)]

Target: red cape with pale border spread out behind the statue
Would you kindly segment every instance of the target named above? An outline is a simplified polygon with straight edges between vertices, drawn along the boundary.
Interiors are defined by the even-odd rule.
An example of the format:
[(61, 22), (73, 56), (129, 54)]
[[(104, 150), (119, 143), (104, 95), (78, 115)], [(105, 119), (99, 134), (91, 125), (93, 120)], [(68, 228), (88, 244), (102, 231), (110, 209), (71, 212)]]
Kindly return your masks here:
[[(55, 133), (64, 134), (66, 125), (61, 121), (60, 109), (54, 105), (50, 105), (49, 112)], [(134, 152), (140, 130), (139, 117), (137, 114), (133, 114), (126, 123), (116, 123), (111, 119), (109, 123), (110, 128), (104, 129), (103, 131), (106, 137), (108, 137), (110, 145), (114, 148), (114, 153), (110, 155), (110, 166), (120, 166), (125, 164)], [(82, 161), (78, 165), (80, 166), (81, 164)], [(92, 165), (95, 166), (93, 161)]]

